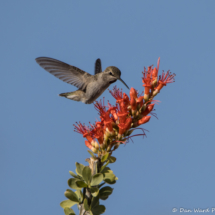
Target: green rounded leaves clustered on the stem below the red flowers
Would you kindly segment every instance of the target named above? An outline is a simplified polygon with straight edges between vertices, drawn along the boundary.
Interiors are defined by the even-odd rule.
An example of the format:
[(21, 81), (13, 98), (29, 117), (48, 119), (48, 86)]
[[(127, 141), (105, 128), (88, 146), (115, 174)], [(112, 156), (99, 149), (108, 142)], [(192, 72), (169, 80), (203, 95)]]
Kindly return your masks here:
[[(114, 184), (118, 179), (113, 171), (107, 167), (109, 163), (114, 163), (116, 158), (110, 156), (108, 153), (101, 158), (102, 167), (100, 172), (92, 176), (91, 169), (88, 166), (76, 162), (77, 175), (69, 171), (72, 178), (68, 180), (70, 188), (76, 190), (75, 192), (67, 189), (65, 196), (68, 198), (60, 203), (60, 206), (64, 209), (65, 215), (75, 215), (71, 207), (75, 204), (82, 205), (85, 211), (88, 211), (91, 215), (99, 215), (105, 212), (105, 206), (99, 204), (99, 199), (106, 200), (113, 192), (113, 188), (109, 186), (102, 187), (104, 184)], [(85, 189), (92, 195), (91, 201), (89, 196), (85, 196), (81, 189)]]

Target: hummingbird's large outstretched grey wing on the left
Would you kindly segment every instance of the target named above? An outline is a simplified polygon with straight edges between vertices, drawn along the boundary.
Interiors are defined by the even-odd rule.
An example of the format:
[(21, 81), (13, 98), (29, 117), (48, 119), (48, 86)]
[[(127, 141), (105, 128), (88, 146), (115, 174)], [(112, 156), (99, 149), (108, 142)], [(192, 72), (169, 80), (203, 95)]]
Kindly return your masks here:
[(48, 57), (38, 57), (36, 62), (46, 71), (61, 79), (62, 81), (72, 84), (80, 90), (85, 90), (88, 84), (88, 78), (91, 76), (83, 70), (71, 66), (59, 60)]

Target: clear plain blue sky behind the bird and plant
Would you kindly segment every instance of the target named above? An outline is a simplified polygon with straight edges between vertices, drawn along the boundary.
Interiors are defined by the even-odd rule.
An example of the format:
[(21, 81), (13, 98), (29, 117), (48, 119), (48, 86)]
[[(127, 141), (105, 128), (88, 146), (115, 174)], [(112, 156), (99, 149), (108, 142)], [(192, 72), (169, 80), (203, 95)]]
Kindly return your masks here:
[(143, 67), (160, 56), (160, 71), (176, 73), (176, 82), (156, 97), (159, 119), (142, 126), (147, 138), (114, 153), (119, 180), (105, 214), (215, 207), (214, 11), (212, 0), (1, 0), (0, 214), (64, 214), (68, 171), (87, 165), (73, 123), (94, 122), (97, 112), (58, 97), (76, 88), (39, 67), (40, 56), (91, 74), (99, 57), (140, 91)]

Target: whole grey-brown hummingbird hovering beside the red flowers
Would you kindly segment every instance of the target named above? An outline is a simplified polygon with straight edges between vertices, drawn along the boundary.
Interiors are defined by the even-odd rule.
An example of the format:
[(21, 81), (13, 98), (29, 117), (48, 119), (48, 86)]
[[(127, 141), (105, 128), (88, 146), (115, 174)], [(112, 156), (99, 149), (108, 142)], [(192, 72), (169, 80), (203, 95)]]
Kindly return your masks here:
[(52, 75), (78, 88), (73, 92), (59, 94), (59, 96), (67, 99), (91, 104), (117, 80), (120, 80), (129, 89), (120, 78), (121, 71), (117, 67), (109, 66), (102, 72), (102, 64), (99, 58), (95, 62), (94, 75), (53, 58), (38, 57), (35, 60)]

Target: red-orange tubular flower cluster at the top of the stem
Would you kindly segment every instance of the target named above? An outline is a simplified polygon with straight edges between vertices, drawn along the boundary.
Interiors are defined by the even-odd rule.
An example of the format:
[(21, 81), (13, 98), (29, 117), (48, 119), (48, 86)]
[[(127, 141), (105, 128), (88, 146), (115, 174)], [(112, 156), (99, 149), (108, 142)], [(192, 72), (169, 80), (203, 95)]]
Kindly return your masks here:
[[(148, 70), (144, 68), (142, 78), (145, 87), (144, 96), (139, 95), (137, 90), (131, 88), (129, 97), (115, 86), (112, 91), (109, 90), (116, 99), (115, 105), (111, 105), (109, 102), (105, 105), (104, 100), (94, 103), (95, 109), (99, 112), (100, 121), (90, 124), (90, 126), (81, 123), (74, 125), (75, 131), (87, 139), (85, 145), (99, 157), (106, 151), (111, 154), (121, 143), (131, 137), (130, 135), (136, 127), (150, 120), (150, 113), (154, 115), (152, 114), (155, 105), (153, 98), (163, 86), (174, 82), (175, 77), (175, 74), (167, 71), (158, 78), (159, 64), (160, 58), (157, 67), (149, 66)], [(144, 130), (140, 135), (145, 135)]]

